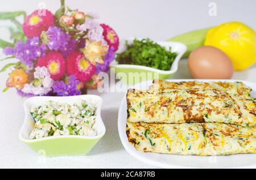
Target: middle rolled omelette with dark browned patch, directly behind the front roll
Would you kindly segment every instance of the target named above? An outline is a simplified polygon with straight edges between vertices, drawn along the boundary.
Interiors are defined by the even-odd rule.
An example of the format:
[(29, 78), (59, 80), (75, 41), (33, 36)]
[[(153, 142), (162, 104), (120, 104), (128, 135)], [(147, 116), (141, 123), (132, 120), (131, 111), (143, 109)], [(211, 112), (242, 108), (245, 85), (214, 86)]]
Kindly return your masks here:
[(127, 122), (219, 122), (256, 125), (253, 98), (238, 98), (217, 89), (162, 89), (127, 92)]

